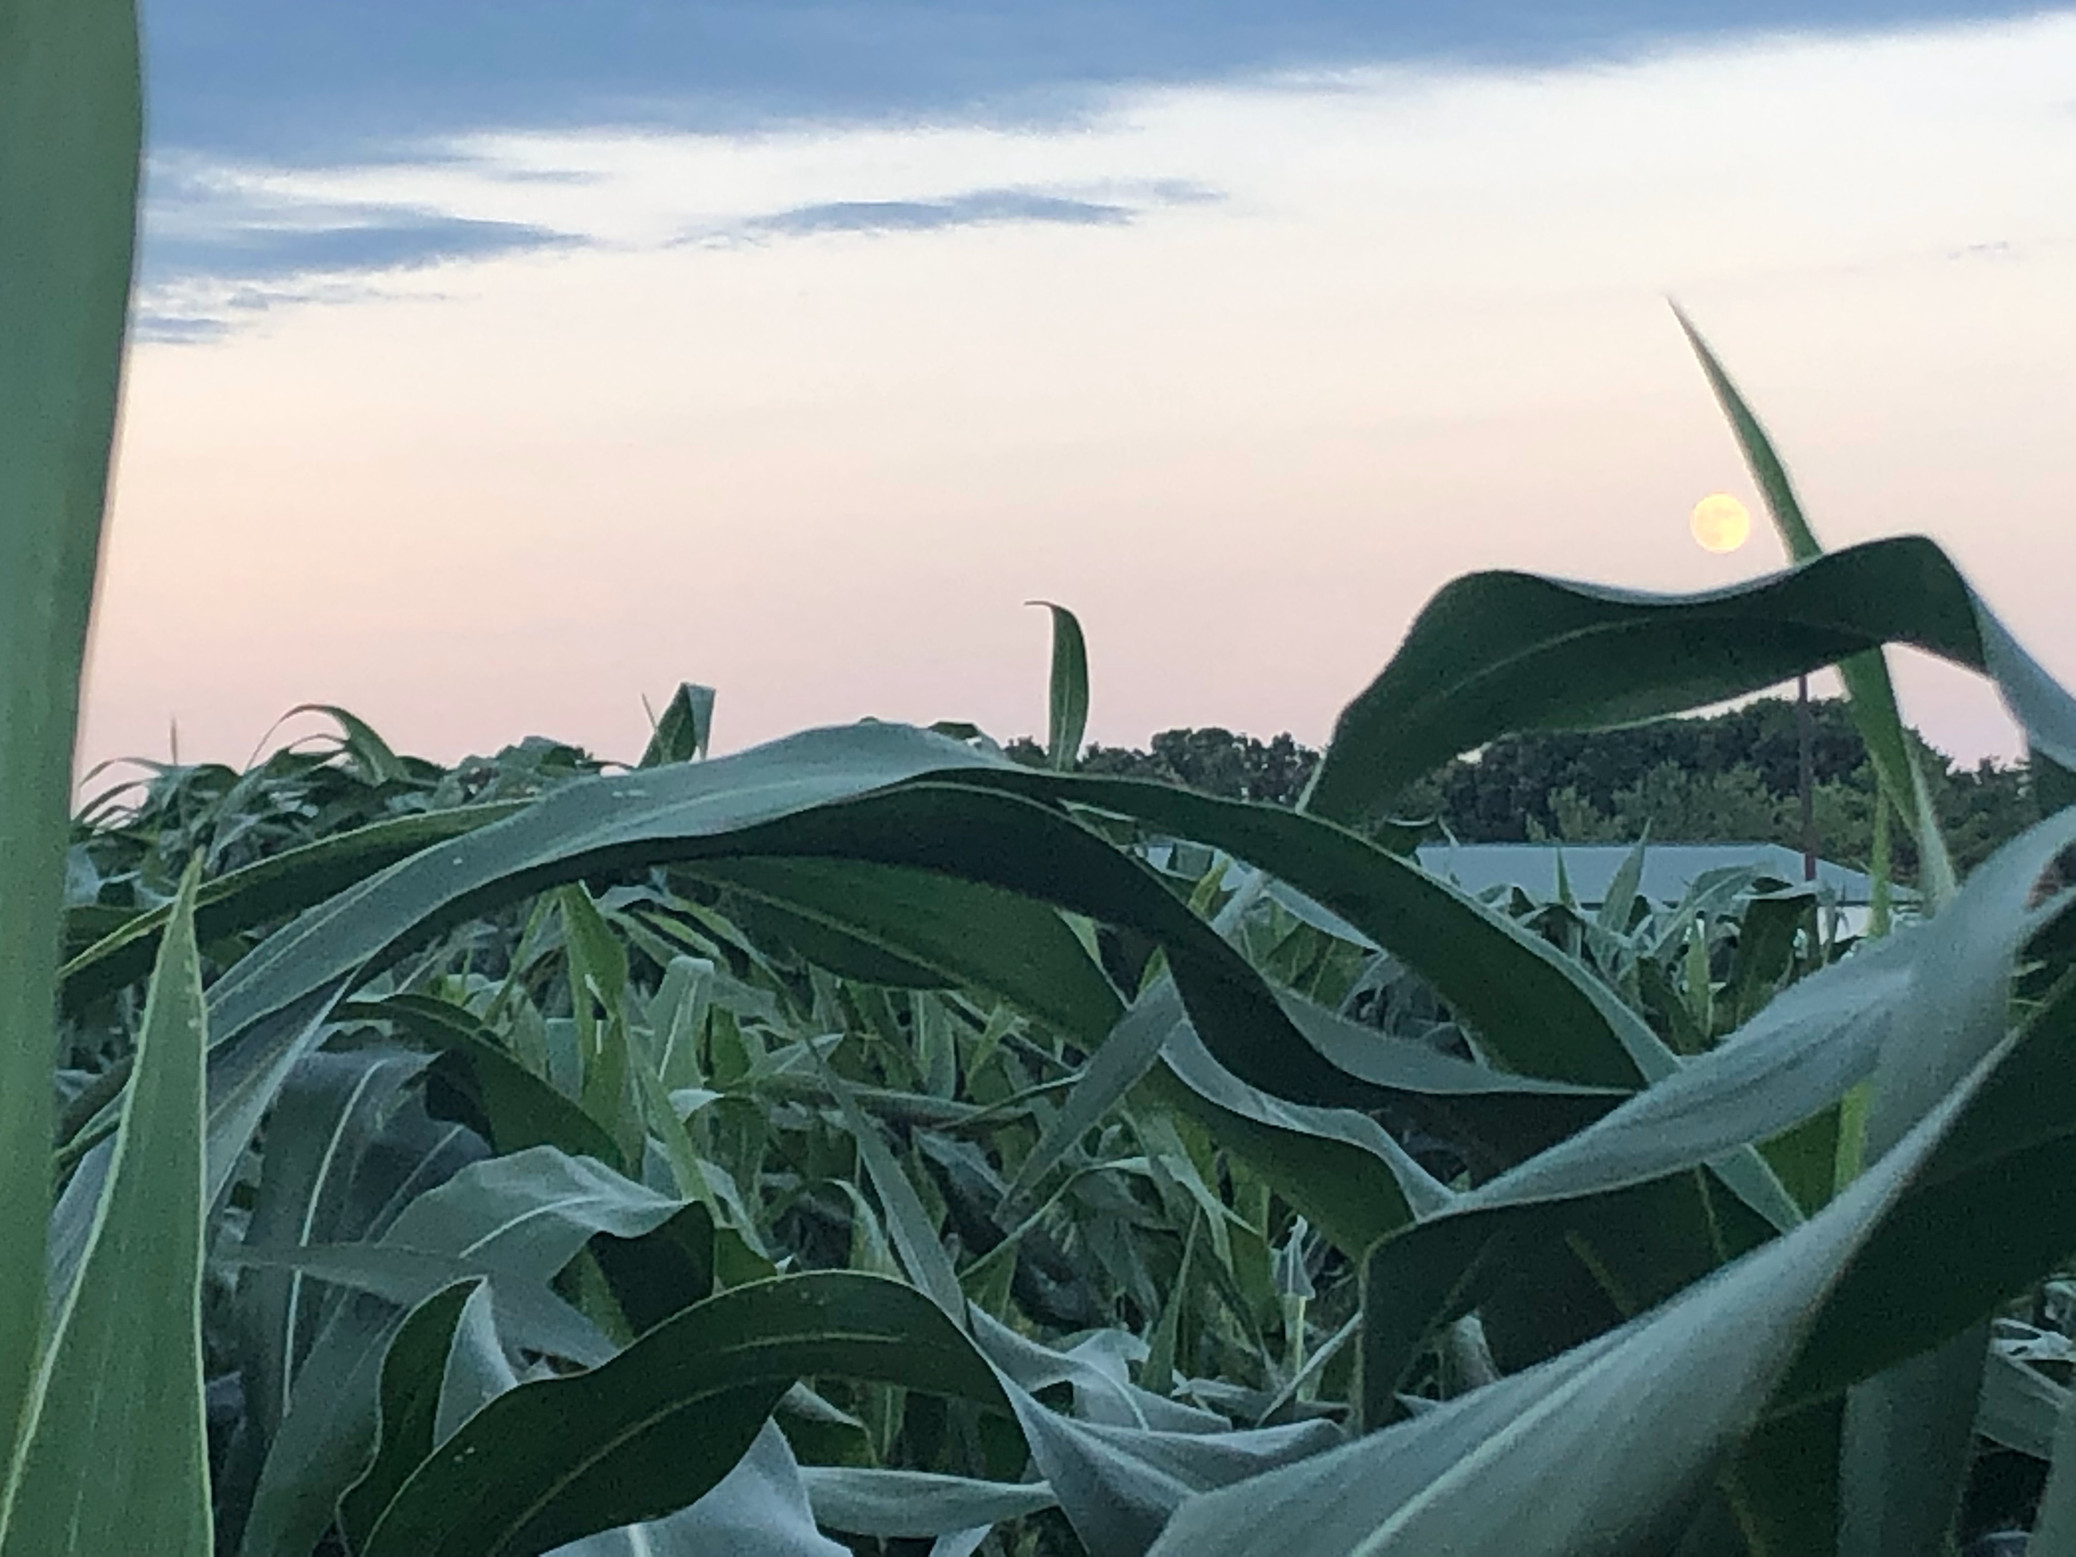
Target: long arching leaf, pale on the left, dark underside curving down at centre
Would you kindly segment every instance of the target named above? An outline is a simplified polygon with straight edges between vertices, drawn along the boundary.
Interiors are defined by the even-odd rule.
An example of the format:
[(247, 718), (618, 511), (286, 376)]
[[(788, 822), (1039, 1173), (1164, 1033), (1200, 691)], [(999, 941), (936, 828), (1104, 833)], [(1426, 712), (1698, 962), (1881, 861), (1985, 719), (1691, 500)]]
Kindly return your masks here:
[[(976, 770), (988, 766), (940, 737), (859, 727), (614, 778), (608, 789), (571, 785), (531, 812), (409, 859), (276, 932), (220, 982), (220, 1019), (239, 1026), (278, 1009), (299, 999), (313, 976), (349, 974), (355, 953), (380, 955), (459, 905), (509, 901), (538, 889), (544, 876), (575, 880), (637, 859), (847, 857), (961, 876), (1142, 928), (1169, 947), (1192, 1019), (1221, 1063), (1300, 1098), (1341, 1102), (1349, 1094), (1349, 1077), (1295, 1038), (1244, 957), (1144, 864), (1059, 810), (1017, 795), (945, 781), (857, 793), (870, 787), (874, 768), (862, 762), (839, 768), (832, 758), (845, 749), (880, 758), (878, 772), (889, 778), (907, 776), (889, 760), (897, 754), (916, 764), (909, 774), (928, 772), (922, 762), (949, 754)], [(814, 803), (830, 791), (843, 793), (837, 772), (849, 774), (845, 787), (855, 799)], [(745, 826), (749, 818), (762, 826)]]

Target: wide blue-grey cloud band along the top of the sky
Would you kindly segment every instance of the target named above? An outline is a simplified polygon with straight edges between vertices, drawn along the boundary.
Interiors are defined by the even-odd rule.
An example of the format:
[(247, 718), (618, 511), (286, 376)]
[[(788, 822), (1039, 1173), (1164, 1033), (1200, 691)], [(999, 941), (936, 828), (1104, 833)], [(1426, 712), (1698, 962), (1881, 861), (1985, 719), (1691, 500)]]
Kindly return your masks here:
[(1071, 116), (1094, 87), (1374, 60), (1569, 64), (1675, 39), (1987, 21), (1954, 0), (160, 0), (166, 147), (365, 156), (509, 125)]

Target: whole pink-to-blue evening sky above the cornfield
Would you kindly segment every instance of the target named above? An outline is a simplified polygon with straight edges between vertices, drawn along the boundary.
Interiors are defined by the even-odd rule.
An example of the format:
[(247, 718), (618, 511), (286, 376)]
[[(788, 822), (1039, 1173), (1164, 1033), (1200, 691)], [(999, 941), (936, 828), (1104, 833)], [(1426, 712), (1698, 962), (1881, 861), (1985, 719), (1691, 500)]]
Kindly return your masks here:
[[(1939, 540), (2076, 681), (2076, 8), (145, 8), (83, 762), (859, 716), (1320, 741), (1449, 577)], [(1895, 656), (1941, 747), (1972, 677)]]

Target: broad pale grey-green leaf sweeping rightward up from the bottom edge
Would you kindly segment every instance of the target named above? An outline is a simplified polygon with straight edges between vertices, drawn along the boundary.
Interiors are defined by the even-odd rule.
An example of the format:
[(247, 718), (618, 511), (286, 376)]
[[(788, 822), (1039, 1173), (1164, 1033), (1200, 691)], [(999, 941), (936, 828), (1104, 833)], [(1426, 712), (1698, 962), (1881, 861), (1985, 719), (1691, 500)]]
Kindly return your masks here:
[(1816, 1308), (1993, 1065), (1823, 1212), (1715, 1281), (1345, 1449), (1192, 1499), (1150, 1557), (1673, 1551)]

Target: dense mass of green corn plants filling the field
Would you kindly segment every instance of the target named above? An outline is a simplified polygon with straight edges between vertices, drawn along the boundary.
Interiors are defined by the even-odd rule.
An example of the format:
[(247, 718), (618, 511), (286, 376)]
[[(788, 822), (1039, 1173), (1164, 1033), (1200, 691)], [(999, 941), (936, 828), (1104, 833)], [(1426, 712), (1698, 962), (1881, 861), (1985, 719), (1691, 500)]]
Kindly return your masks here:
[[(1937, 546), (1437, 594), (1298, 808), (969, 727), (440, 768), (345, 710), (69, 818), (135, 23), (0, 0), (0, 1553), (2076, 1551), (2076, 812), (1951, 880), (1883, 646), (2076, 700)], [(1927, 913), (1424, 872), (1509, 733), (1841, 664)], [(2057, 864), (2061, 862), (2061, 864)]]

